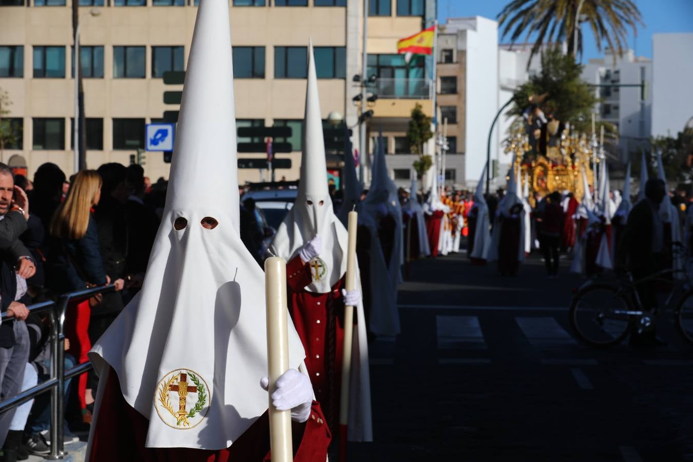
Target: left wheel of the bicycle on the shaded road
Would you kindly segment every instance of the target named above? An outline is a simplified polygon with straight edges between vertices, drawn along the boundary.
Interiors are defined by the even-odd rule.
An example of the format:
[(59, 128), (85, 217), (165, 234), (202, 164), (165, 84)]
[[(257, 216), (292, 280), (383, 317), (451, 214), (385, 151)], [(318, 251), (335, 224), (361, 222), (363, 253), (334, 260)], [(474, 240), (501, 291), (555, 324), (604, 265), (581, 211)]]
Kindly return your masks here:
[(570, 325), (577, 338), (590, 346), (618, 344), (630, 329), (629, 301), (613, 285), (585, 287), (570, 303)]

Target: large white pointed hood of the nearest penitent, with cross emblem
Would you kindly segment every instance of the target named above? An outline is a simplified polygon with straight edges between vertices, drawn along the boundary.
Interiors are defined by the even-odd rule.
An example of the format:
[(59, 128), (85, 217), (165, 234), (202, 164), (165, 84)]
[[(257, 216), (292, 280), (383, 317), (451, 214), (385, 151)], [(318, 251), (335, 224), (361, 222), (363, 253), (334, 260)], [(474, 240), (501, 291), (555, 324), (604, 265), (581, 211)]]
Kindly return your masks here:
[[(265, 277), (238, 233), (232, 75), (228, 3), (201, 0), (146, 278), (90, 353), (148, 419), (146, 447), (220, 450), (267, 410)], [(297, 368), (304, 349), (289, 326)]]

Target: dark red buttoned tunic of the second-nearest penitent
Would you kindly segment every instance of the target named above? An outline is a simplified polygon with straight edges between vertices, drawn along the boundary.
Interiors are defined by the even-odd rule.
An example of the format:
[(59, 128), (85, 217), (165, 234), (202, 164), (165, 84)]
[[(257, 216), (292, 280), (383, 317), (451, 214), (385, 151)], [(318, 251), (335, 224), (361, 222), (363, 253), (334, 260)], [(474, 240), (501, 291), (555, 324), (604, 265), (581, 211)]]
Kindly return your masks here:
[(323, 404), (334, 431), (342, 383), (344, 278), (326, 294), (308, 292), (306, 286), (313, 282), (313, 276), (310, 266), (299, 256), (286, 264), (286, 278), (289, 313), (306, 350), (306, 367), (315, 399)]

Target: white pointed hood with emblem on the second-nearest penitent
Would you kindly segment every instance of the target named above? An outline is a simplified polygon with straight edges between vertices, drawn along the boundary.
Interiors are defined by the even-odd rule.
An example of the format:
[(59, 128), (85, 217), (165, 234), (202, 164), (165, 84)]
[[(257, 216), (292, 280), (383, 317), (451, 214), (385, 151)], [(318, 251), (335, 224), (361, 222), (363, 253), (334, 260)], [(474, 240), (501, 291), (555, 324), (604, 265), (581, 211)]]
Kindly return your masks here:
[(322, 254), (316, 261), (322, 265), (313, 275), (310, 292), (330, 292), (347, 272), (347, 229), (337, 220), (327, 188), (325, 143), (322, 136), (322, 117), (317, 92), (317, 76), (313, 44), (308, 46), (308, 82), (306, 84), (306, 113), (304, 149), (301, 156), (301, 180), (296, 202), (270, 245), (272, 252), (290, 260), (306, 242), (320, 235)]

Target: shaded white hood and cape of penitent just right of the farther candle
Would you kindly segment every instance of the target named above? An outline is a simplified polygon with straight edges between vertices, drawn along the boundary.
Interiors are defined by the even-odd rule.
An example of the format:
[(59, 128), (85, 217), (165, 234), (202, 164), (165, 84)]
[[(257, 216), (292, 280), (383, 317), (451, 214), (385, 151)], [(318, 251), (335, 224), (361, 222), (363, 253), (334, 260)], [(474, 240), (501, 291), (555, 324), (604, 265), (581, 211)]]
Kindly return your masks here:
[(368, 195), (363, 200), (363, 211), (380, 223), (387, 215), (394, 220), (392, 236), (392, 253), (389, 257), (387, 273), (392, 287), (398, 287), (402, 282), (401, 266), (404, 263), (404, 245), (402, 232), (402, 208), (397, 197), (397, 186), (387, 173), (385, 163), (385, 142), (380, 134), (376, 155), (374, 156), (373, 181)]

